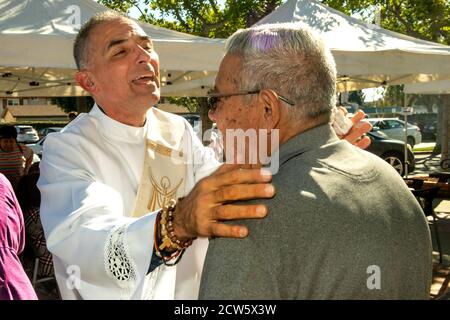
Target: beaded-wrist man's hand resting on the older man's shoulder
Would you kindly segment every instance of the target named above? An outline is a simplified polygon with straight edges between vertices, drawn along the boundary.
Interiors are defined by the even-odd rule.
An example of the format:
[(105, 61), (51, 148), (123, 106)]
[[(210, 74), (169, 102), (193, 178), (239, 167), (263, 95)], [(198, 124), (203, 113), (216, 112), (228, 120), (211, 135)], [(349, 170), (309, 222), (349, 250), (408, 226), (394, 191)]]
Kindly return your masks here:
[[(264, 170), (264, 169), (263, 169)], [(174, 231), (178, 239), (194, 237), (244, 238), (244, 226), (224, 224), (224, 221), (263, 218), (265, 205), (234, 204), (236, 201), (271, 198), (275, 189), (269, 182), (272, 175), (261, 169), (240, 169), (237, 165), (222, 165), (178, 202), (174, 214)]]

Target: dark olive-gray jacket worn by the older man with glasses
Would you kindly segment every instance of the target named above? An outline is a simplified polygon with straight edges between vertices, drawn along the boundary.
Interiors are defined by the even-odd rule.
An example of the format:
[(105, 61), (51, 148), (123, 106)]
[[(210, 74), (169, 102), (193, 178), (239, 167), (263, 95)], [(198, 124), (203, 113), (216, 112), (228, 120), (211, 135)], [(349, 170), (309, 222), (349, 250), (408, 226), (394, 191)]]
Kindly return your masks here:
[[(398, 173), (329, 125), (280, 148), (246, 239), (210, 240), (200, 299), (427, 299), (430, 232)], [(264, 202), (264, 201), (253, 201)]]

